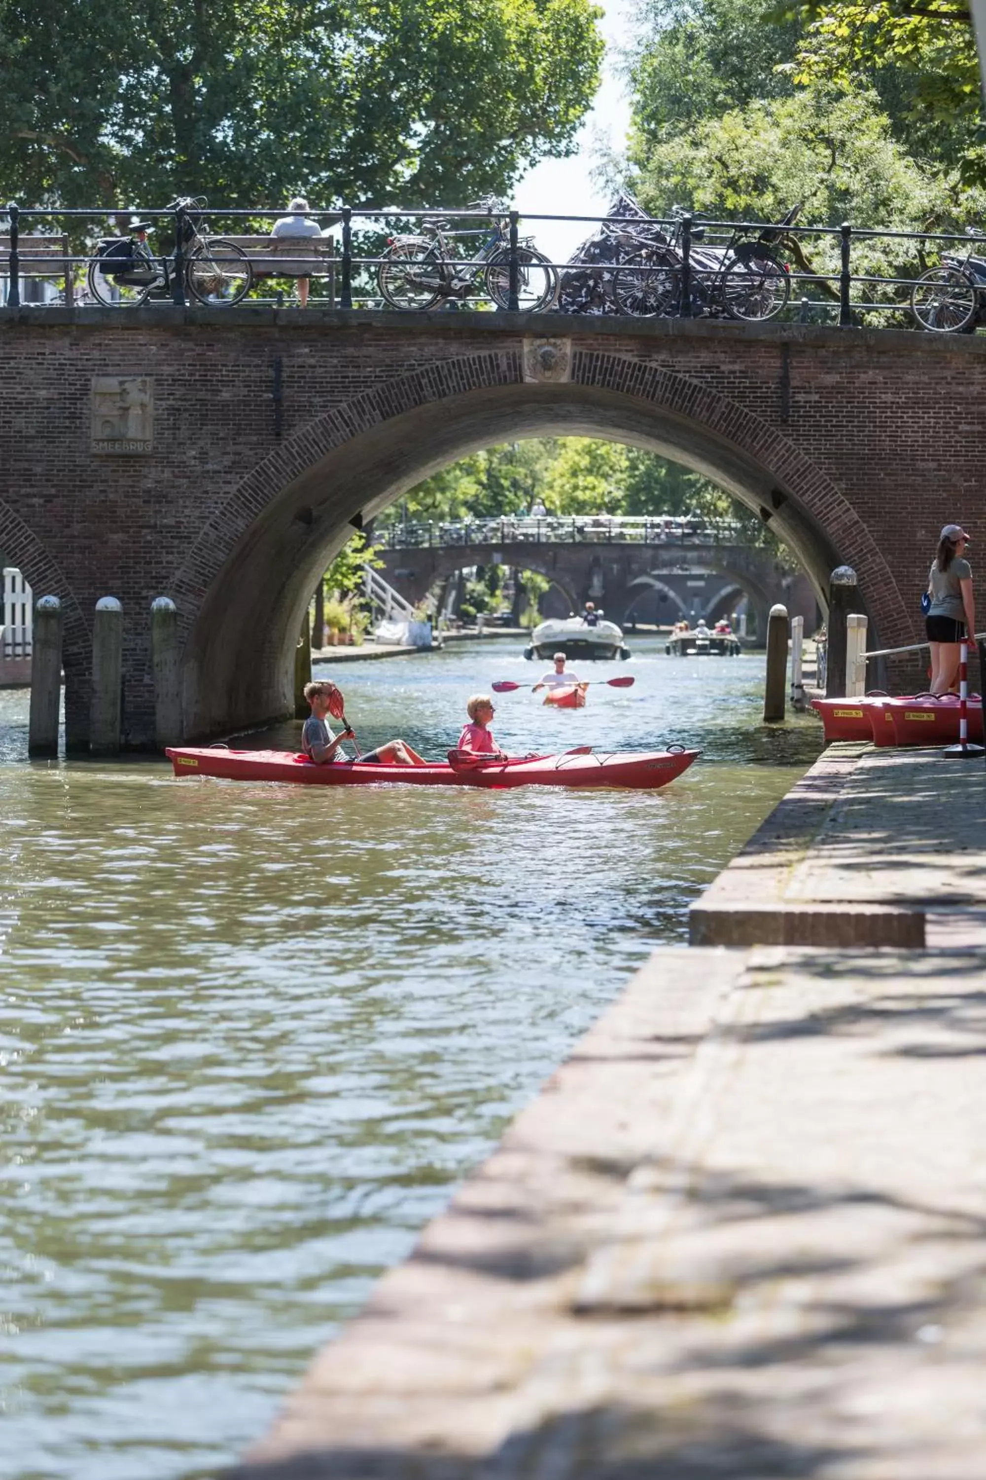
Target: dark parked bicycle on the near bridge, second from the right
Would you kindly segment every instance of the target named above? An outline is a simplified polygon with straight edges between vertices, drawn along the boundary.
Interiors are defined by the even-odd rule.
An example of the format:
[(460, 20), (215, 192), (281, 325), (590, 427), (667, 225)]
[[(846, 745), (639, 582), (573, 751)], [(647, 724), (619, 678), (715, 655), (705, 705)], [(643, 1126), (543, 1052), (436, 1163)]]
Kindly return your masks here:
[[(692, 315), (726, 314), (748, 323), (775, 318), (791, 297), (791, 277), (779, 255), (783, 231), (792, 225), (800, 207), (794, 206), (775, 226), (766, 226), (752, 240), (749, 228), (738, 226), (723, 247), (702, 247), (705, 228), (692, 228), (689, 252), (689, 308)], [(637, 234), (636, 250), (624, 255), (613, 274), (612, 295), (616, 311), (636, 317), (680, 314), (684, 289), (681, 222), (670, 235)]]

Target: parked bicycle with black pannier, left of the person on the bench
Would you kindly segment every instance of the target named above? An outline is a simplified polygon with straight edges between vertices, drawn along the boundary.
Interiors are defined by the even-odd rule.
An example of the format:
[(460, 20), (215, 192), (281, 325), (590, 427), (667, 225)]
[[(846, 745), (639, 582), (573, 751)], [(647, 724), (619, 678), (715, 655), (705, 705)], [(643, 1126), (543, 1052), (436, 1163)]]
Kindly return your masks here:
[[(253, 286), (253, 269), (242, 247), (205, 228), (204, 195), (171, 201), (180, 212), (185, 286), (205, 308), (238, 303)], [(136, 221), (127, 237), (105, 237), (89, 263), (86, 283), (106, 308), (139, 308), (149, 297), (170, 299), (174, 292), (174, 255), (155, 256), (148, 246), (151, 221)]]

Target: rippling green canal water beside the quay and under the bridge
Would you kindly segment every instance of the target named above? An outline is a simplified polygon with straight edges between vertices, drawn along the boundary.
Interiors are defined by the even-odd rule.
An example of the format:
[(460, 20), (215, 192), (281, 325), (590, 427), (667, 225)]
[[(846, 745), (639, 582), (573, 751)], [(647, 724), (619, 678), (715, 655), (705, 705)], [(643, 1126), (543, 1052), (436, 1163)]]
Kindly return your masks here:
[[(760, 657), (636, 647), (633, 688), (581, 712), (500, 696), (494, 731), (701, 746), (655, 793), (28, 764), (28, 696), (0, 693), (4, 1480), (222, 1468), (650, 947), (684, 940), (820, 730), (760, 725)], [(486, 639), (331, 675), (364, 747), (436, 756), (470, 693), (544, 666)]]

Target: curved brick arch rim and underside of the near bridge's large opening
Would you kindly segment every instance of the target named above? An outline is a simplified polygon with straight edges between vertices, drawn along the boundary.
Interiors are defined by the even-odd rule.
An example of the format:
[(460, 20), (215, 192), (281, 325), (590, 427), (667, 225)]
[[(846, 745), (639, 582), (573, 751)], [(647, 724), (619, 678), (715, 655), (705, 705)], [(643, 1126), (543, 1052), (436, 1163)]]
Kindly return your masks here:
[(469, 355), (383, 382), (316, 417), (217, 511), (173, 583), (183, 626), (186, 736), (293, 707), (291, 654), (305, 605), (356, 514), (373, 517), (439, 468), (523, 437), (603, 437), (704, 472), (767, 514), (825, 601), (849, 561), (877, 633), (906, 632), (884, 561), (835, 484), (769, 423), (658, 366), (572, 357), (568, 383), (525, 383), (517, 349)]

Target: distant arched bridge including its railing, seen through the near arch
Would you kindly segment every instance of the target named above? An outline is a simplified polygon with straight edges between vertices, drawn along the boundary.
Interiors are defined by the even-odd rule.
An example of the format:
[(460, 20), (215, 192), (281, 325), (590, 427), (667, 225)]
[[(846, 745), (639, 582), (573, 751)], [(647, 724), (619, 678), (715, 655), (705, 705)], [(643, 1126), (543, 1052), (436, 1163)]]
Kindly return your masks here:
[[(503, 518), (461, 524), (396, 524), (384, 531), (383, 576), (411, 602), (433, 586), (475, 565), (509, 565), (545, 576), (571, 610), (591, 599), (624, 623), (642, 614), (650, 591), (664, 591), (680, 611), (690, 611), (687, 582), (705, 582), (702, 616), (717, 616), (726, 593), (733, 605), (749, 601), (758, 633), (767, 611), (783, 601), (794, 616), (815, 622), (816, 604), (807, 579), (758, 545), (742, 540), (739, 525), (661, 518)], [(705, 610), (705, 602), (708, 610)], [(713, 610), (717, 607), (718, 610)]]

